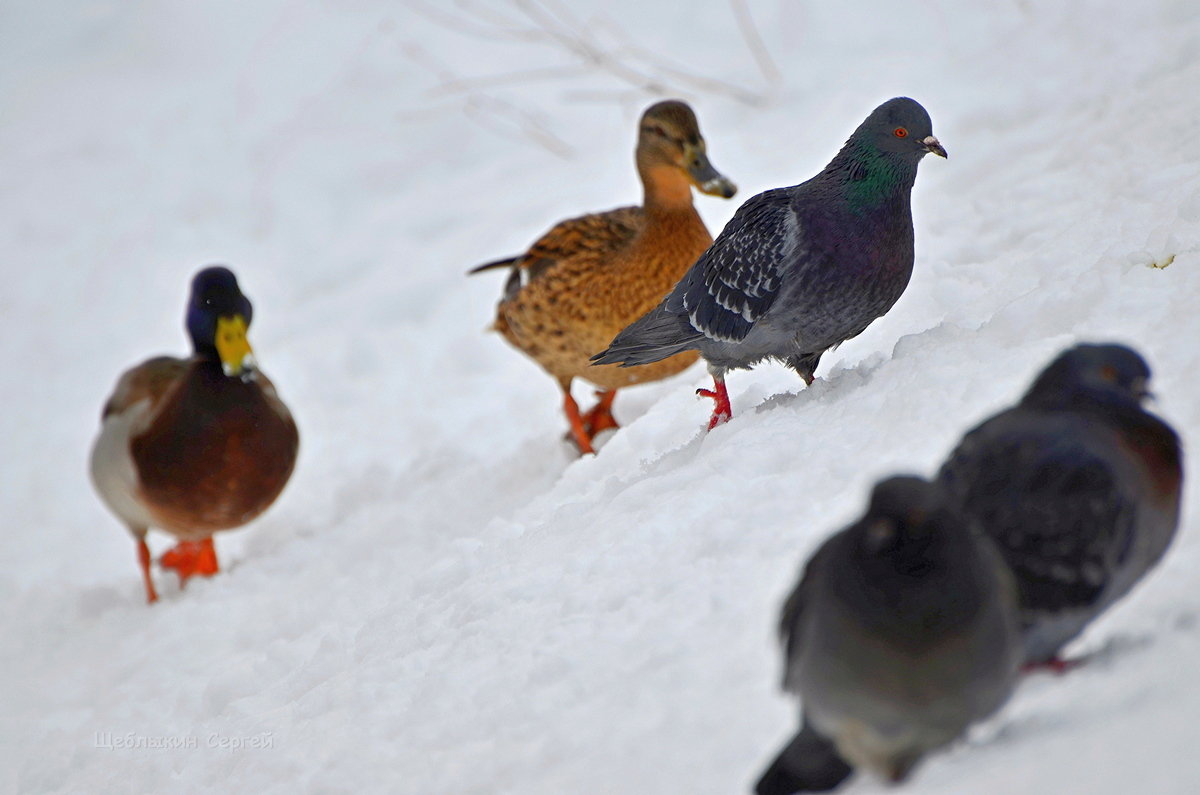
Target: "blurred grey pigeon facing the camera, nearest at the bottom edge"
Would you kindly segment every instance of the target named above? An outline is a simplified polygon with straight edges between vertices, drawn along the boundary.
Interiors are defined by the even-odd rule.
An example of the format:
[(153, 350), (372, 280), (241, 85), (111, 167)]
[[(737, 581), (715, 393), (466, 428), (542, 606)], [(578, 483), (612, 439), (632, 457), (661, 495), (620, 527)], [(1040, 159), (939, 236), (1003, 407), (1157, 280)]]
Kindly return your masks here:
[(822, 544), (780, 634), (804, 712), (758, 795), (833, 789), (852, 766), (902, 781), (1000, 709), (1020, 667), (1003, 560), (914, 477), (877, 484), (866, 514)]

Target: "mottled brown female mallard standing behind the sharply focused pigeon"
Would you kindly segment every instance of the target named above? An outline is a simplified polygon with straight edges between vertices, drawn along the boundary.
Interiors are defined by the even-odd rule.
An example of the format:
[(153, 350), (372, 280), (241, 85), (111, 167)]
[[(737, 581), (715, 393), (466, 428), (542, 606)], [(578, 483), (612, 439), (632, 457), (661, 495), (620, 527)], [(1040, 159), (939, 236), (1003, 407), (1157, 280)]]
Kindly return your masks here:
[[(599, 431), (617, 428), (612, 400), (618, 388), (666, 378), (696, 360), (689, 352), (622, 369), (592, 366), (589, 358), (662, 300), (713, 243), (692, 205), (691, 187), (724, 198), (737, 191), (708, 162), (696, 114), (677, 100), (642, 114), (637, 173), (642, 207), (568, 219), (523, 255), (470, 271), (511, 267), (494, 328), (558, 381), (582, 453), (594, 452)], [(574, 378), (600, 387), (599, 401), (586, 414), (571, 398)]]

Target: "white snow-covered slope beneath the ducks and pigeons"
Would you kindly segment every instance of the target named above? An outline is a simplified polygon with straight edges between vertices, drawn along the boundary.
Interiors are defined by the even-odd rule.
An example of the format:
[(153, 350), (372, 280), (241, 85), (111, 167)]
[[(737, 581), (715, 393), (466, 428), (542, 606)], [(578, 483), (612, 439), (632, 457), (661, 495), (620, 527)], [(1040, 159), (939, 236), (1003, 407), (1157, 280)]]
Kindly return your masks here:
[[(0, 790), (745, 791), (796, 719), (780, 600), (877, 478), (932, 472), (1080, 339), (1141, 349), (1198, 437), (1194, 0), (752, 2), (778, 82), (736, 5), (526, 4), (616, 71), (503, 0), (0, 6)], [(698, 199), (714, 232), (894, 95), (950, 159), (922, 165), (908, 292), (812, 388), (732, 373), (706, 435), (696, 366), (575, 460), (552, 381), (484, 333), (503, 279), (463, 271), (636, 201), (654, 95), (624, 67), (742, 186)], [(301, 459), (218, 576), (148, 608), (86, 455), (216, 261)], [(1196, 483), (1092, 660), (905, 789), (1195, 791)]]

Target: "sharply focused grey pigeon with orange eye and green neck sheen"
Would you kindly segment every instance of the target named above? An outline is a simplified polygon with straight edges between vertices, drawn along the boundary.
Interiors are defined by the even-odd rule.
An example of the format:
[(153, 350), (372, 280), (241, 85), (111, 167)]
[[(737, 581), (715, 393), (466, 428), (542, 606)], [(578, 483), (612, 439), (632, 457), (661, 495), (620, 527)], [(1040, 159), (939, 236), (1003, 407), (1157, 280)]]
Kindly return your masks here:
[(821, 354), (892, 309), (913, 262), (910, 193), (926, 154), (946, 157), (925, 108), (888, 100), (820, 174), (743, 204), (674, 289), (594, 364), (643, 365), (700, 351), (709, 428), (727, 420), (725, 372), (779, 359), (812, 383)]

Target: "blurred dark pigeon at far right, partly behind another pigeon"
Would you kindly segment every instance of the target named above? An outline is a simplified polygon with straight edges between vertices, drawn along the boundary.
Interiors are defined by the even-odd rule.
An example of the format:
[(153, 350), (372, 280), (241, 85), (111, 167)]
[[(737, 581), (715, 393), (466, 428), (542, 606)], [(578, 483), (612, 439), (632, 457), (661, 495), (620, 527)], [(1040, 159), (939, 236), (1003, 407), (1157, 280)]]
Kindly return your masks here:
[(1016, 578), (1028, 667), (1062, 647), (1166, 551), (1182, 450), (1142, 408), (1150, 367), (1121, 345), (1078, 345), (1013, 408), (970, 431), (938, 479)]

